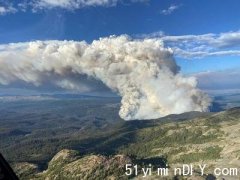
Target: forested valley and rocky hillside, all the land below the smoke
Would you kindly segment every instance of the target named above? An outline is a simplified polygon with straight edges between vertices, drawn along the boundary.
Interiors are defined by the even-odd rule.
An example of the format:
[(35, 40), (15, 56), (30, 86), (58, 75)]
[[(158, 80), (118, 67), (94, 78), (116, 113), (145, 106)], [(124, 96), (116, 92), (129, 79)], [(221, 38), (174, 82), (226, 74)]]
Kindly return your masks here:
[[(133, 178), (124, 176), (126, 162), (170, 170), (207, 164), (204, 176), (194, 170), (202, 179), (215, 167), (240, 168), (239, 108), (143, 121), (123, 121), (118, 108), (115, 97), (2, 102), (1, 153), (20, 179), (89, 179), (92, 171), (99, 175), (93, 179)], [(63, 160), (56, 162), (56, 156)], [(99, 164), (86, 167), (89, 161)], [(102, 167), (105, 163), (111, 168)], [(75, 170), (69, 172), (69, 166)], [(170, 173), (166, 179), (173, 177), (187, 178)]]

